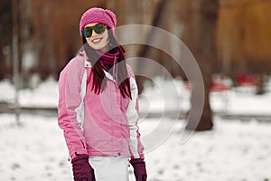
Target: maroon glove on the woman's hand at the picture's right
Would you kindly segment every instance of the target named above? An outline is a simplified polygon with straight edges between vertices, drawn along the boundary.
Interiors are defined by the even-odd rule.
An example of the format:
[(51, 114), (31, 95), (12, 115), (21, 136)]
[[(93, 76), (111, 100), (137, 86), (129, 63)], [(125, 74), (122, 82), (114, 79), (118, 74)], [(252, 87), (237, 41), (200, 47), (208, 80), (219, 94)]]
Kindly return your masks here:
[(135, 158), (130, 160), (134, 167), (134, 174), (136, 181), (146, 181), (145, 161), (142, 158)]

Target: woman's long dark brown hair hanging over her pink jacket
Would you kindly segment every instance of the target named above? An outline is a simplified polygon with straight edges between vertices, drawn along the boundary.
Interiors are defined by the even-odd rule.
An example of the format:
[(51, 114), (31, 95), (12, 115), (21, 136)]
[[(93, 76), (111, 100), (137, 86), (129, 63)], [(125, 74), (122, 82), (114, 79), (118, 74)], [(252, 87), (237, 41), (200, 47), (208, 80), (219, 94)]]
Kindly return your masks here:
[[(124, 98), (127, 97), (129, 99), (132, 99), (130, 81), (128, 78), (125, 55), (124, 55), (125, 49), (119, 43), (117, 43), (117, 40), (110, 29), (108, 29), (107, 33), (108, 33), (109, 46), (110, 46), (109, 52), (110, 51), (114, 52), (115, 50), (120, 52), (119, 60), (117, 60), (117, 65), (114, 65), (114, 66), (117, 66), (117, 85), (119, 87), (121, 95)], [(84, 36), (82, 36), (82, 42), (83, 42), (84, 50), (89, 57), (89, 62), (91, 62), (92, 64), (91, 73), (92, 73), (93, 84), (92, 84), (91, 90), (94, 90), (96, 94), (99, 94), (106, 87), (106, 83), (107, 83), (105, 79), (106, 74), (100, 62), (98, 61), (99, 56), (97, 52), (95, 52), (95, 50), (89, 46), (89, 43), (87, 43), (87, 40)]]

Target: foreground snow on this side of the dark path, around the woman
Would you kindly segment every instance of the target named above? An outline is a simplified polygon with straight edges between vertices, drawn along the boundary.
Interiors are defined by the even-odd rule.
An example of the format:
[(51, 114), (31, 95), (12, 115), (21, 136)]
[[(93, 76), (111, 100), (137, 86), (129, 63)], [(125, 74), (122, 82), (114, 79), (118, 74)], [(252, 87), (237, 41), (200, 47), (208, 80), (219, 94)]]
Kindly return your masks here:
[[(0, 180), (72, 180), (68, 150), (57, 118), (0, 115)], [(181, 143), (182, 120), (145, 119), (140, 128), (150, 181), (271, 180), (271, 123), (215, 119), (215, 128)], [(154, 144), (147, 137), (169, 137)], [(157, 129), (159, 128), (159, 129)], [(135, 180), (130, 170), (130, 180)]]

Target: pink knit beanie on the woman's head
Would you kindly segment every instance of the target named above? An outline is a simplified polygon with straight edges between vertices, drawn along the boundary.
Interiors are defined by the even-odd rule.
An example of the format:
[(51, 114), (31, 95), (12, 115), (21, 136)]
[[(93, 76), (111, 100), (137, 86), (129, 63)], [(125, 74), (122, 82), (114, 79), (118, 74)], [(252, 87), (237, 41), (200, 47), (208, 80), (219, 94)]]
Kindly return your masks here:
[(106, 24), (114, 31), (117, 24), (116, 15), (108, 9), (102, 9), (99, 7), (90, 8), (81, 16), (79, 23), (80, 36), (82, 36), (82, 30), (85, 25), (94, 23)]

